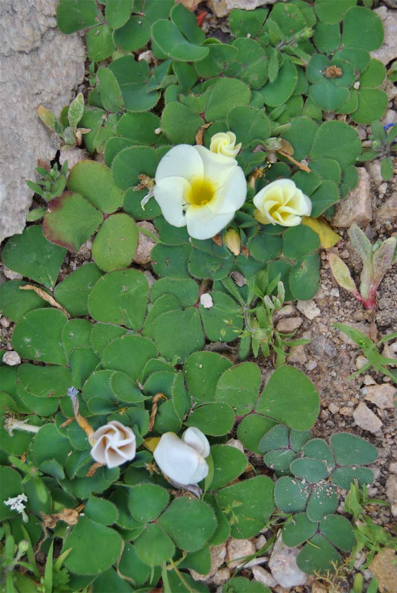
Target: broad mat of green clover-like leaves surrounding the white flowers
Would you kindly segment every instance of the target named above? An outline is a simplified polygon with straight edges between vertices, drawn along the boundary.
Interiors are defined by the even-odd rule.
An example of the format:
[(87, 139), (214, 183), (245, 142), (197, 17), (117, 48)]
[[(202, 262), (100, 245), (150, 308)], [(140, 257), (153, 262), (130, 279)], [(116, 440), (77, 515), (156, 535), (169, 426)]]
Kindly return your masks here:
[[(47, 208), (30, 220), (44, 214), (43, 222), (11, 237), (2, 253), (33, 287), (21, 290), (25, 280), (10, 280), (0, 288), (2, 314), (15, 322), (12, 346), (23, 359), (0, 365), (0, 519), (9, 591), (27, 588), (22, 576), (8, 576), (18, 564), (40, 580), (33, 547), (44, 515), (53, 522), (42, 543), (47, 565), (38, 591), (146, 593), (161, 578), (165, 593), (205, 592), (183, 571), (206, 574), (210, 546), (230, 535), (253, 537), (265, 525), (282, 525), (287, 546), (307, 542), (298, 556), (303, 570), (326, 572), (341, 561), (338, 550), (354, 545), (350, 523), (335, 515), (335, 488), (348, 489), (354, 479), (370, 483), (366, 466), (376, 449), (342, 433), (329, 445), (310, 438), (319, 395), (306, 375), (284, 365), (285, 347), (303, 342), (275, 330), (272, 316), (284, 301), (315, 295), (319, 238), (304, 225), (259, 224), (252, 198), (270, 181), (291, 177), (317, 217), (355, 187), (360, 139), (346, 123), (322, 123), (322, 110), (362, 122), (368, 101), (382, 106), (385, 73), (367, 59), (382, 43), (380, 20), (355, 0), (338, 8), (291, 0), (271, 11), (232, 11), (233, 39), (224, 44), (205, 39), (195, 16), (174, 0), (59, 0), (58, 25), (65, 34), (88, 29), (94, 85), (87, 104), (78, 95), (59, 120), (45, 108), (39, 115), (63, 145), (84, 145), (93, 158), (78, 162), (67, 180), (67, 165), (38, 171), (43, 180), (28, 184)], [(134, 54), (147, 44), (157, 60), (152, 70)], [(342, 74), (334, 69), (327, 72), (337, 75), (328, 76), (329, 67)], [(189, 238), (165, 221), (154, 200), (144, 200), (171, 146), (201, 135), (209, 146), (212, 135), (227, 130), (242, 142), (237, 161), (249, 180), (247, 202), (232, 222), (237, 254), (224, 231), (217, 242)], [(271, 168), (268, 152), (278, 155)], [(306, 160), (309, 171), (300, 162)], [(158, 238), (135, 223), (147, 219)], [(139, 232), (157, 243), (151, 286), (133, 267)], [(94, 261), (58, 281), (68, 250), (93, 236)], [(237, 286), (232, 272), (247, 284)], [(201, 299), (207, 291), (209, 308)], [(254, 362), (233, 364), (205, 349), (236, 338), (240, 360), (251, 348), (254, 355), (276, 353), (278, 368), (262, 390)], [(131, 427), (131, 463), (93, 468), (78, 418), (94, 430), (112, 420)], [(247, 451), (264, 454), (276, 483), (226, 445), (234, 426)], [(158, 471), (147, 441), (188, 427), (211, 445), (200, 498), (196, 485), (180, 495)], [(21, 494), (27, 522), (4, 504)], [(66, 520), (65, 509), (75, 509), (75, 521)], [(287, 517), (282, 524), (276, 509)], [(53, 562), (55, 538), (63, 547)], [(251, 585), (234, 577), (225, 590)]]

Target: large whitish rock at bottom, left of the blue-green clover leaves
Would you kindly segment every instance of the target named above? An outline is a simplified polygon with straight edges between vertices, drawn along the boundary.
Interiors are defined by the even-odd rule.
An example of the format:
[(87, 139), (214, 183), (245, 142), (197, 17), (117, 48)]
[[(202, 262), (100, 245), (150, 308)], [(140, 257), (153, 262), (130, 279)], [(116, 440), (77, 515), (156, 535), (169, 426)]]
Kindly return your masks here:
[(281, 541), (281, 533), (277, 538), (269, 560), (269, 569), (278, 585), (293, 587), (304, 585), (307, 575), (298, 568), (296, 557), (300, 548), (288, 548)]

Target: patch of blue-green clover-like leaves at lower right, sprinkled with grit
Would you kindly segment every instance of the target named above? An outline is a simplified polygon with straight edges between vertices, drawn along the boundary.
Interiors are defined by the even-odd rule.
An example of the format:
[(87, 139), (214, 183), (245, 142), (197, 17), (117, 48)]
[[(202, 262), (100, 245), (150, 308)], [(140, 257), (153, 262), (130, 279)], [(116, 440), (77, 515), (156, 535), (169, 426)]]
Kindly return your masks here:
[(277, 425), (259, 442), (264, 461), (279, 477), (275, 503), (282, 512), (294, 514), (282, 527), (287, 546), (306, 542), (297, 564), (307, 573), (326, 572), (341, 562), (336, 548), (350, 551), (354, 532), (350, 522), (334, 515), (338, 506), (336, 486), (348, 489), (373, 482), (373, 472), (364, 467), (377, 458), (376, 449), (357, 436), (336, 433), (330, 445), (311, 439), (310, 431), (294, 431)]

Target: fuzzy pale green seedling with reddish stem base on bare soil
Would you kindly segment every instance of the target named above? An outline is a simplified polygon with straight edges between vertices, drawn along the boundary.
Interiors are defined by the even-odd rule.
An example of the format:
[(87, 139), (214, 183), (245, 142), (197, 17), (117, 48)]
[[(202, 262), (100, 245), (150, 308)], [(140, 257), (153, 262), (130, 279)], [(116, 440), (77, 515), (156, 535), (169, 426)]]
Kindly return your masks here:
[(339, 286), (357, 298), (363, 307), (372, 310), (376, 306), (376, 291), (383, 276), (397, 257), (397, 239), (389, 237), (385, 241), (377, 241), (371, 245), (369, 238), (354, 222), (348, 230), (350, 243), (354, 251), (361, 257), (363, 269), (358, 291), (347, 265), (336, 255), (328, 254), (331, 272)]

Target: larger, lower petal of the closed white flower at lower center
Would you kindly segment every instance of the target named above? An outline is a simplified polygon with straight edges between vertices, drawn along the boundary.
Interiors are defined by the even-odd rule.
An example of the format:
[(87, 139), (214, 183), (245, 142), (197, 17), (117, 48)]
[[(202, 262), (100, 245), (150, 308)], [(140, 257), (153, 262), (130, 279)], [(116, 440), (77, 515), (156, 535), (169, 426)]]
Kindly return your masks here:
[(184, 486), (196, 483), (196, 476), (205, 477), (208, 474), (204, 458), (174, 432), (166, 432), (161, 436), (153, 457), (166, 476)]

